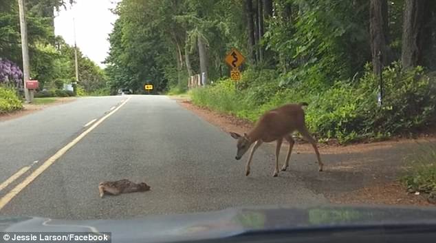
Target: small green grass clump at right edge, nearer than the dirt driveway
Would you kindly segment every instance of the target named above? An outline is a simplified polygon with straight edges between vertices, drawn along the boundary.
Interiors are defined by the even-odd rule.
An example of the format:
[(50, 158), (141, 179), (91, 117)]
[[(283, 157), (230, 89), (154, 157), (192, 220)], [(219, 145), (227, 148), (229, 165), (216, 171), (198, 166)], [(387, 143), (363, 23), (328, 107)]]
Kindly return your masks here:
[(428, 193), (436, 200), (436, 144), (419, 144), (416, 153), (408, 158), (407, 175), (401, 178), (409, 193)]

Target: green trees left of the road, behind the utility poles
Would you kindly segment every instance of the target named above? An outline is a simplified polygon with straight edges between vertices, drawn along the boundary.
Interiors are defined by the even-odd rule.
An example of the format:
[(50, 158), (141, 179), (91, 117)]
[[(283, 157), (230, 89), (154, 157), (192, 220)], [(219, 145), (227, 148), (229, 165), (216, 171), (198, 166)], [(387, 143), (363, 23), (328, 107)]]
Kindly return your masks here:
[[(62, 89), (75, 78), (74, 47), (54, 34), (54, 13), (67, 8), (70, 0), (27, 0), (26, 17), (30, 52), (30, 77), (40, 82), (40, 89)], [(0, 58), (15, 63), (22, 70), (21, 35), (18, 3), (0, 3)], [(107, 87), (104, 70), (78, 50), (80, 92), (94, 92)]]

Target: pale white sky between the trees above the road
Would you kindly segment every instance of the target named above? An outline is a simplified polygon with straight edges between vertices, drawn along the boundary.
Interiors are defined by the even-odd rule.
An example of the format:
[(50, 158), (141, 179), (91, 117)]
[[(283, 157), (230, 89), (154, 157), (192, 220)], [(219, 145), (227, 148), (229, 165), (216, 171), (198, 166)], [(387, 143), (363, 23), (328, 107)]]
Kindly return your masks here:
[(76, 41), (80, 50), (100, 67), (109, 52), (108, 34), (112, 31), (116, 15), (115, 8), (120, 0), (76, 0), (72, 7), (62, 9), (54, 19), (54, 32), (74, 45), (73, 17), (76, 21)]

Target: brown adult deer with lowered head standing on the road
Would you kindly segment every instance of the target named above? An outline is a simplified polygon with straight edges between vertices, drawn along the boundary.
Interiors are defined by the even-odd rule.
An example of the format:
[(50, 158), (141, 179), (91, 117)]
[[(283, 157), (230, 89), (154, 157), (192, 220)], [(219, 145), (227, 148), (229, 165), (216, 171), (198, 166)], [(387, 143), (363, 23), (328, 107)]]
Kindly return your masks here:
[(323, 162), (321, 162), (321, 157), (316, 145), (316, 140), (309, 134), (305, 124), (305, 112), (303, 107), (308, 104), (303, 103), (292, 103), (283, 105), (276, 109), (272, 109), (265, 112), (257, 123), (254, 124), (253, 129), (244, 133), (242, 136), (236, 132), (230, 131), (229, 134), (232, 138), (237, 140), (237, 155), (236, 160), (240, 160), (244, 154), (250, 149), (251, 145), (254, 144), (250, 151), (250, 156), (248, 157), (246, 165), (246, 176), (250, 175), (250, 165), (253, 158), (254, 151), (256, 151), (263, 142), (274, 142), (276, 141), (276, 164), (274, 173), (272, 176), (279, 176), (279, 154), (283, 139), (289, 142), (290, 147), (287, 151), (287, 156), (281, 171), (286, 171), (289, 167), (289, 160), (292, 153), (292, 147), (294, 147), (295, 140), (292, 138), (292, 133), (298, 131), (308, 142), (314, 147), (316, 158), (318, 159), (318, 171), (323, 171)]

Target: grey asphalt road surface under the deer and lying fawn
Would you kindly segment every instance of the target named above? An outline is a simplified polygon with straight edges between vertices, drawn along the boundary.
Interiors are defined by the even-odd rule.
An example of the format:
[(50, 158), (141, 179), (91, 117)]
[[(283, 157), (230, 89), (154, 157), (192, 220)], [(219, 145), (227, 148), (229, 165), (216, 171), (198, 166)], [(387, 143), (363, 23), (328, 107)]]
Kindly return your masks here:
[[(120, 219), (327, 202), (292, 171), (273, 178), (274, 154), (268, 146), (258, 149), (246, 177), (247, 157), (235, 160), (235, 140), (166, 96), (80, 98), (0, 123), (0, 183), (19, 168), (40, 161), (0, 191), (0, 197), (83, 132), (89, 120), (103, 116), (127, 97), (124, 106), (56, 160), (0, 214)], [(316, 180), (314, 154), (298, 160), (307, 160), (299, 165), (312, 171)], [(120, 179), (144, 181), (151, 191), (98, 196), (100, 181)]]

